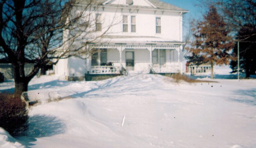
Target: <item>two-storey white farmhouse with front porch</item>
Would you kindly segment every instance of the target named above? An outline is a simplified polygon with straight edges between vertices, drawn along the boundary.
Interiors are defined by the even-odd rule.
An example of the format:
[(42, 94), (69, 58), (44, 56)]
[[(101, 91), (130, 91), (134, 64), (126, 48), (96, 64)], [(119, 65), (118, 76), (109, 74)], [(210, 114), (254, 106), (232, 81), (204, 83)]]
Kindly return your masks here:
[[(97, 0), (92, 14), (95, 34), (102, 40), (91, 42), (94, 54), (83, 60), (60, 60), (55, 74), (66, 80), (120, 74), (121, 70), (142, 73), (182, 73), (182, 15), (188, 11), (160, 0)], [(87, 0), (80, 3), (86, 6)], [(87, 78), (88, 77), (88, 78)]]

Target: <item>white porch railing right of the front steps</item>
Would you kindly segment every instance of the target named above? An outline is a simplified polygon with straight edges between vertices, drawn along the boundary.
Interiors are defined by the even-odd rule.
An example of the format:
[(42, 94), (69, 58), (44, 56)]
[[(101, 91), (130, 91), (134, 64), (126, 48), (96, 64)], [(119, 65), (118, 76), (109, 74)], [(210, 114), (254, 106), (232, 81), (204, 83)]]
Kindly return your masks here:
[(178, 73), (180, 72), (179, 65), (169, 65), (169, 66), (152, 66), (155, 73)]

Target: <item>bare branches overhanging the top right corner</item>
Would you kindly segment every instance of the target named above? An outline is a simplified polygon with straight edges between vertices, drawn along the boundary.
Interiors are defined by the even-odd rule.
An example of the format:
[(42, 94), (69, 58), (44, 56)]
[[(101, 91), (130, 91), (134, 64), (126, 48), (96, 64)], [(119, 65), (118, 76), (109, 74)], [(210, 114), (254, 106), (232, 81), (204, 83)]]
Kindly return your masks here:
[[(224, 21), (232, 31), (234, 41), (256, 42), (256, 39), (248, 41), (249, 37), (256, 36), (256, 0), (201, 0), (204, 5), (214, 5)], [(250, 24), (250, 25), (248, 25)], [(241, 36), (238, 32), (247, 32)], [(249, 33), (251, 32), (251, 33)], [(249, 34), (248, 34), (249, 33)]]

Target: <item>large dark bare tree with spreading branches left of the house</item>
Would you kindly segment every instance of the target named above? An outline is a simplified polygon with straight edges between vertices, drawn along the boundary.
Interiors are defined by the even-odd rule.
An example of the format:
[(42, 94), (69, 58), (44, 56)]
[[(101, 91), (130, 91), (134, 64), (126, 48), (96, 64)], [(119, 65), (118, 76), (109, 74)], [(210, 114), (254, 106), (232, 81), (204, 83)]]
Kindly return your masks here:
[[(39, 69), (59, 59), (84, 55), (95, 35), (97, 0), (0, 0), (0, 54), (13, 65), (15, 92), (27, 91)], [(24, 65), (34, 68), (25, 75)], [(43, 70), (43, 69), (42, 69)]]

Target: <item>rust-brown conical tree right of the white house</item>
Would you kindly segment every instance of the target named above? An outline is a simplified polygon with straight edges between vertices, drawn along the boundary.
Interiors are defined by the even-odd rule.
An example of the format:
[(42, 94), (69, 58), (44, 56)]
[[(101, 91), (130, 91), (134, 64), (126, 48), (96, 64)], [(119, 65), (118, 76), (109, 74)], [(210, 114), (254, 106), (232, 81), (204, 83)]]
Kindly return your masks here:
[(210, 6), (203, 20), (196, 22), (193, 26), (195, 40), (191, 43), (191, 47), (187, 48), (190, 56), (186, 59), (197, 65), (209, 63), (211, 79), (213, 79), (213, 65), (227, 65), (232, 58), (229, 54), (233, 48), (233, 42), (229, 37), (230, 31), (214, 6)]

